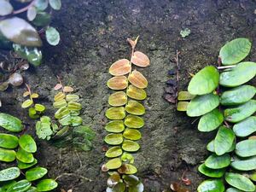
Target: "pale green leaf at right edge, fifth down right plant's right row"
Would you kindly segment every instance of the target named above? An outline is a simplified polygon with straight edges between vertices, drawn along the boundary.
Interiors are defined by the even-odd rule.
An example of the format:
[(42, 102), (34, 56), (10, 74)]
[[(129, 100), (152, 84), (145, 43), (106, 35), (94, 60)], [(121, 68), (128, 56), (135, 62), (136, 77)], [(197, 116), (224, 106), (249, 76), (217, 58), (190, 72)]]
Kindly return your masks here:
[(256, 131), (256, 117), (251, 116), (233, 126), (237, 137), (247, 137)]

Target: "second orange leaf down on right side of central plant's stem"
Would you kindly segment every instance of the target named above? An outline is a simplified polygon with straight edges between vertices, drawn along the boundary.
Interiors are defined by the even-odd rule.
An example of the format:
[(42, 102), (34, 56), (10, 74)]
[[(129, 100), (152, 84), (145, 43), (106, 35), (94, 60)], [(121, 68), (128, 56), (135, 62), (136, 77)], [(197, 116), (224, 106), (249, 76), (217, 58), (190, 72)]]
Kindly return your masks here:
[(137, 88), (144, 89), (148, 86), (148, 80), (143, 76), (142, 73), (134, 70), (128, 77), (131, 84)]

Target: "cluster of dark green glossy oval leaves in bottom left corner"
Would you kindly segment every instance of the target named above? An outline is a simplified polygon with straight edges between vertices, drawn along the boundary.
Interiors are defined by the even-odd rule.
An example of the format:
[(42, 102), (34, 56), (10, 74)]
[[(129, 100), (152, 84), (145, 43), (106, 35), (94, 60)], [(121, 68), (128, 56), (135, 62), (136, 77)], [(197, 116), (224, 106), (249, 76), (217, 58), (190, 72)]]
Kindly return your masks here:
[[(0, 126), (12, 132), (23, 129), (20, 119), (7, 113), (0, 113)], [(17, 166), (0, 171), (1, 192), (50, 191), (58, 186), (54, 179), (43, 178), (48, 171), (44, 167), (36, 166), (38, 160), (33, 156), (36, 152), (37, 144), (30, 135), (17, 137), (0, 133), (0, 161), (17, 162)]]

